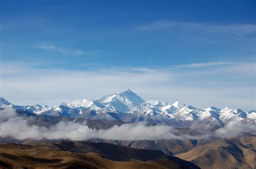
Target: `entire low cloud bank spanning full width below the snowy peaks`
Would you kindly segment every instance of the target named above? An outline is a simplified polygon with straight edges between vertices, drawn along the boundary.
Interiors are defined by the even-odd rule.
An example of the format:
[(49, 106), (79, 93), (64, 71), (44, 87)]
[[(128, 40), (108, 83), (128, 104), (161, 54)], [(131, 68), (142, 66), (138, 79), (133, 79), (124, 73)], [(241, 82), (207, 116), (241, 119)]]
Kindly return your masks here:
[(157, 140), (157, 139), (200, 139), (210, 137), (236, 137), (242, 132), (255, 131), (255, 125), (230, 122), (224, 128), (199, 136), (178, 135), (172, 126), (146, 125), (145, 123), (123, 124), (110, 129), (90, 129), (75, 122), (59, 122), (50, 128), (29, 125), (28, 119), (16, 116), (12, 108), (0, 110), (0, 137), (15, 139), (70, 139), (87, 140), (92, 138), (112, 140)]

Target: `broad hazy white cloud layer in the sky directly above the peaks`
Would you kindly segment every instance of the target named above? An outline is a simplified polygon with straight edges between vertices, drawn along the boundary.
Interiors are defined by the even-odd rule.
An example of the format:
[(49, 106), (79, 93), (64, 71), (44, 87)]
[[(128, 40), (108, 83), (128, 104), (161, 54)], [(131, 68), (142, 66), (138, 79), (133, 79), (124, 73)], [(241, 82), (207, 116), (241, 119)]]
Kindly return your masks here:
[(56, 105), (130, 88), (145, 100), (180, 100), (198, 108), (255, 109), (254, 63), (194, 65), (186, 69), (181, 65), (64, 71), (9, 63), (1, 68), (1, 96), (14, 104)]

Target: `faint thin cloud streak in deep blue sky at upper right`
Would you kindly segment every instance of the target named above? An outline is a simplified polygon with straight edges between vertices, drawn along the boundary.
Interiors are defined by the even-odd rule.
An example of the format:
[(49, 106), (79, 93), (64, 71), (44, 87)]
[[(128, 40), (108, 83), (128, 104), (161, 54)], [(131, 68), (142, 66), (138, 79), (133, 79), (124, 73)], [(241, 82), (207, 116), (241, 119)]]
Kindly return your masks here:
[(245, 36), (256, 33), (255, 24), (206, 24), (189, 22), (172, 22), (170, 20), (157, 20), (155, 22), (140, 25), (137, 29), (142, 31), (155, 31), (161, 29), (201, 30), (209, 33), (227, 33), (235, 36)]

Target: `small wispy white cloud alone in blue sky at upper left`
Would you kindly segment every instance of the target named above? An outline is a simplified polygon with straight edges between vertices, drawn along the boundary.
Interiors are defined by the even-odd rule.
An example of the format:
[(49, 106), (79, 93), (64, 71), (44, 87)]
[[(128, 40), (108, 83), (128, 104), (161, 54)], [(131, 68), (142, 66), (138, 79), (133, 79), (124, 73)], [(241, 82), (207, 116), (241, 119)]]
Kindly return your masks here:
[(82, 50), (71, 50), (70, 48), (57, 47), (54, 45), (38, 45), (36, 47), (42, 50), (59, 52), (63, 54), (73, 54), (73, 55), (90, 54), (90, 52), (85, 52)]

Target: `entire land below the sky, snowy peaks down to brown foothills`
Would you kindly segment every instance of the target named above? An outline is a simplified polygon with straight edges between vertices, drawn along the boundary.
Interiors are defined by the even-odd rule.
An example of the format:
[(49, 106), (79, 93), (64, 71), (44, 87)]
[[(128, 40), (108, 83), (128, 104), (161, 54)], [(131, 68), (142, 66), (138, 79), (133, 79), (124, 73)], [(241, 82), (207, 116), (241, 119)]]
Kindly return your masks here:
[[(58, 166), (59, 160), (63, 167), (113, 167), (119, 165), (117, 161), (121, 161), (122, 167), (129, 161), (125, 163), (127, 168), (134, 165), (140, 168), (197, 168), (193, 164), (201, 168), (255, 166), (255, 110), (200, 109), (179, 101), (173, 104), (145, 101), (129, 89), (96, 100), (84, 98), (53, 107), (15, 105), (0, 97), (0, 107), (0, 115), (3, 115), (2, 119), (0, 117), (0, 143), (16, 143), (0, 144), (0, 153), (5, 155), (0, 157), (0, 168), (1, 165), (6, 168), (14, 165), (52, 167)], [(12, 108), (16, 109), (15, 115)], [(137, 122), (144, 122), (147, 128), (141, 129), (142, 123)], [(136, 130), (131, 130), (131, 126), (136, 126)], [(173, 136), (170, 139), (133, 136), (136, 135), (134, 131), (139, 135), (158, 136), (163, 129), (160, 126), (170, 129), (163, 132), (164, 136)], [(116, 132), (119, 130), (122, 132)], [(29, 135), (24, 136), (25, 133)], [(56, 133), (60, 135), (52, 137)], [(83, 133), (82, 138), (77, 137), (80, 133)], [(100, 136), (111, 133), (113, 137), (98, 138), (96, 133)], [(129, 139), (119, 137), (122, 133), (130, 133)], [(43, 153), (37, 156), (38, 151)]]

